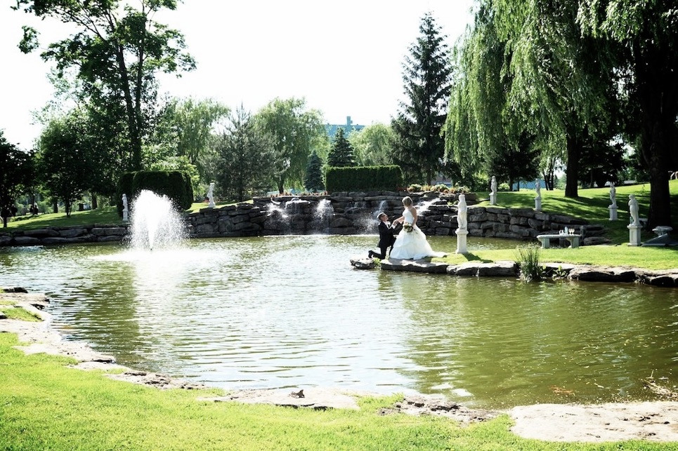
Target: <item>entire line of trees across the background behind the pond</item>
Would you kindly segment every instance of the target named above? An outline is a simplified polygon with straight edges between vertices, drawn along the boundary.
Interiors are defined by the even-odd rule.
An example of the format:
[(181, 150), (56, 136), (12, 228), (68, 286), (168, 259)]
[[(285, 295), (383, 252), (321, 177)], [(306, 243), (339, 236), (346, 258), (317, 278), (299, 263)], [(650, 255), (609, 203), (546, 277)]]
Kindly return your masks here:
[[(579, 187), (645, 177), (648, 224), (671, 224), (678, 19), (667, 2), (478, 0), (474, 22), (452, 48), (426, 13), (403, 62), (405, 100), (391, 123), (346, 135), (339, 128), (334, 137), (304, 99), (276, 98), (252, 113), (162, 97), (159, 72), (195, 69), (181, 32), (153, 19), (176, 1), (118, 6), (13, 7), (78, 31), (41, 52), (56, 62), (59, 96), (41, 112), (36, 148), (17, 156), (0, 135), (0, 149), (30, 166), (9, 182), (1, 177), (0, 201), (15, 199), (18, 188), (9, 185), (21, 174), (18, 191), (40, 187), (70, 206), (85, 192), (93, 203), (111, 199), (119, 176), (141, 168), (188, 170), (195, 192), (216, 181), (221, 198), (242, 201), (270, 189), (322, 191), (325, 166), (398, 164), (408, 183), (443, 175), (480, 190), (492, 175), (509, 189), (535, 177), (553, 189), (562, 171), (570, 197)], [(24, 27), (22, 51), (38, 49), (38, 38)]]

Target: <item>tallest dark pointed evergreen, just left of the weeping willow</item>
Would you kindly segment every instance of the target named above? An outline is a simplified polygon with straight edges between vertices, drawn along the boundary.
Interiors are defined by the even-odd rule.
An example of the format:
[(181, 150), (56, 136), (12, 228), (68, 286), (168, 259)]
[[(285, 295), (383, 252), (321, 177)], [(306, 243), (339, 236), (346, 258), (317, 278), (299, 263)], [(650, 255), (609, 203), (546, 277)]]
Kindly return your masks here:
[(431, 184), (441, 170), (445, 151), (441, 128), (447, 116), (450, 97), (448, 46), (431, 13), (419, 25), (422, 36), (410, 46), (403, 64), (403, 81), (408, 102), (400, 102), (400, 112), (391, 126), (396, 134), (393, 160), (403, 167), (405, 177), (424, 177)]

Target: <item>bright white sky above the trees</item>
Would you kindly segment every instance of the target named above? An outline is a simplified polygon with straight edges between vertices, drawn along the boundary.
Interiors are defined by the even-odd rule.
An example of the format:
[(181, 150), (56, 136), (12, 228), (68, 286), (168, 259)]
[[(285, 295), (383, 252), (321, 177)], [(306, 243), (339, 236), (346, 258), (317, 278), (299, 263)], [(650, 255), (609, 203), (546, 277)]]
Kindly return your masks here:
[[(132, 2), (135, 4), (136, 2)], [(181, 79), (162, 78), (161, 92), (212, 98), (256, 112), (275, 97), (304, 97), (327, 123), (388, 123), (403, 98), (402, 64), (419, 36), (420, 19), (432, 11), (448, 46), (471, 21), (473, 0), (185, 0), (156, 17), (185, 36), (197, 69)], [(41, 32), (41, 45), (73, 30), (0, 9), (0, 128), (22, 149), (41, 126), (32, 112), (53, 95), (49, 66), (17, 44), (21, 26)]]

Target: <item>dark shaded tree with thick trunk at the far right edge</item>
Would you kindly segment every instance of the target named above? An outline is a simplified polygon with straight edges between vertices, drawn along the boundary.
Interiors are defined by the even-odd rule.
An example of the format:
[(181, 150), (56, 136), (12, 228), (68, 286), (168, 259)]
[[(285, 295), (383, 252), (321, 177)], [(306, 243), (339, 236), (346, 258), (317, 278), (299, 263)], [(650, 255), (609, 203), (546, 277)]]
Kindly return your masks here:
[(671, 225), (667, 168), (678, 166), (678, 14), (674, 2), (580, 0), (583, 32), (616, 44), (620, 83), (638, 109), (640, 151), (651, 184), (648, 226)]

